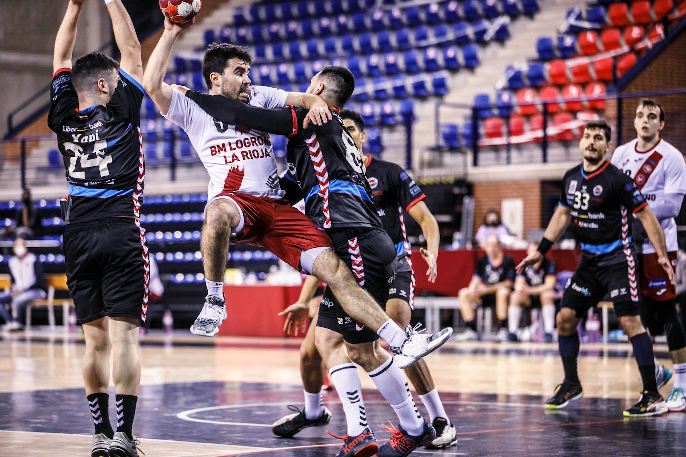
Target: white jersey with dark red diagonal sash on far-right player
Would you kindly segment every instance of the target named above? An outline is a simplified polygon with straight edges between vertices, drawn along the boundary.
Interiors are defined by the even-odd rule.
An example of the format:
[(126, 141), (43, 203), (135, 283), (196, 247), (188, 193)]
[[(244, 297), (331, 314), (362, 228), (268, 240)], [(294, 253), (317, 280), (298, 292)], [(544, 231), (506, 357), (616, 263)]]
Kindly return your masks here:
[[(612, 155), (611, 163), (632, 177), (636, 186), (646, 197), (648, 205), (659, 206), (665, 201), (665, 194), (686, 193), (686, 164), (681, 152), (665, 140), (660, 139), (648, 151), (637, 149), (638, 139), (618, 146)], [(673, 217), (660, 221), (665, 233), (667, 252), (676, 252), (676, 222)], [(639, 254), (654, 254), (641, 221), (634, 219), (632, 234)]]

